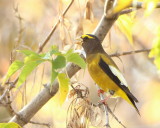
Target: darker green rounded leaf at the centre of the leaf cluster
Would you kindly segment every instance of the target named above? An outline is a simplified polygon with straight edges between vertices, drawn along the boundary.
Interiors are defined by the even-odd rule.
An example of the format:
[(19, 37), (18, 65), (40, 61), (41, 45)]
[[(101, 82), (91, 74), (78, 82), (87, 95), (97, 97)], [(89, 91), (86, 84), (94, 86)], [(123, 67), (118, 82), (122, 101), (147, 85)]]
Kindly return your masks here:
[(64, 56), (57, 56), (52, 62), (53, 69), (59, 69), (66, 66), (66, 58)]

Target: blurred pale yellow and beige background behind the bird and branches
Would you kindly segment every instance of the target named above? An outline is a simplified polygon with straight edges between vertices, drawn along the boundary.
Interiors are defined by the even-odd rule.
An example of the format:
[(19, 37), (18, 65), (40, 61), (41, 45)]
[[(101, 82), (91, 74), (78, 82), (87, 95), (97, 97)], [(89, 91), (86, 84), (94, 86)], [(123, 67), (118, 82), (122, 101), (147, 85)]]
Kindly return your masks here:
[[(16, 50), (37, 51), (70, 2), (71, 0), (0, 0), (0, 82), (7, 73), (10, 63), (23, 58)], [(43, 52), (49, 51), (52, 45), (58, 45), (61, 50), (67, 49), (75, 43), (76, 37), (93, 32), (103, 14), (104, 0), (91, 0), (89, 10), (86, 8), (86, 2), (87, 0), (74, 1)], [(90, 11), (89, 16), (87, 11)], [(151, 48), (160, 23), (159, 12), (160, 9), (155, 9), (146, 17), (143, 10), (137, 11), (133, 21), (133, 44), (129, 43), (115, 23), (103, 41), (105, 50), (112, 54)], [(153, 60), (148, 58), (146, 52), (113, 59), (130, 85), (131, 92), (139, 100), (137, 106), (141, 113), (139, 116), (132, 106), (119, 99), (115, 115), (128, 128), (159, 128), (160, 77)], [(16, 112), (40, 92), (43, 84), (50, 80), (50, 73), (50, 65), (41, 64), (23, 86), (12, 89), (12, 107)], [(11, 80), (14, 80), (16, 76), (17, 74)], [(75, 79), (89, 88), (90, 99), (96, 103), (98, 101), (97, 88), (87, 70), (78, 72), (73, 80)], [(115, 104), (115, 99), (109, 101), (111, 108), (114, 108)], [(68, 100), (60, 106), (55, 96), (32, 120), (49, 123), (53, 128), (64, 128), (68, 106)], [(7, 109), (0, 105), (0, 122), (6, 122), (10, 118)], [(113, 128), (122, 127), (112, 117), (110, 117), (110, 125)], [(42, 128), (45, 126), (27, 124), (24, 127)]]

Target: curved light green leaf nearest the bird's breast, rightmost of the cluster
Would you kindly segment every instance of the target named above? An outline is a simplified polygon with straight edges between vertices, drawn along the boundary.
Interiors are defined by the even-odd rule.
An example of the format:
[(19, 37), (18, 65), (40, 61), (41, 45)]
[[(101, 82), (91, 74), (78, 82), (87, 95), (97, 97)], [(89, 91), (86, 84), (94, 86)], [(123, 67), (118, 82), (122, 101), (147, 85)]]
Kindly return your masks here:
[(78, 66), (80, 66), (83, 69), (86, 67), (85, 61), (77, 53), (70, 53), (70, 54), (68, 54), (66, 56), (66, 59), (67, 59), (68, 62), (72, 62), (74, 64), (77, 64)]

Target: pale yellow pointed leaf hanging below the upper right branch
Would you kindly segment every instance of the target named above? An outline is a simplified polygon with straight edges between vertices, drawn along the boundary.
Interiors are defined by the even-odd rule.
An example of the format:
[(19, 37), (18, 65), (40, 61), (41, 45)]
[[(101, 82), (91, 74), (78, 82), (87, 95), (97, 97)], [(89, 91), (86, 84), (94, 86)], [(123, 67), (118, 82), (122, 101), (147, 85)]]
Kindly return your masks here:
[(120, 29), (120, 31), (127, 37), (129, 42), (133, 44), (133, 37), (132, 37), (132, 28), (133, 28), (133, 21), (128, 15), (122, 15), (116, 21), (116, 25)]

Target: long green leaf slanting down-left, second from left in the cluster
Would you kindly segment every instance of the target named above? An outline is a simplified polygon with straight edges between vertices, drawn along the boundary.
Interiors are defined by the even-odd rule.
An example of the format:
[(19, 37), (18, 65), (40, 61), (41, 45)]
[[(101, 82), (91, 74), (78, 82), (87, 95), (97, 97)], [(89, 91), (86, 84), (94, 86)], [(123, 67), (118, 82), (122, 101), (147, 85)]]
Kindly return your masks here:
[(33, 61), (24, 65), (17, 82), (17, 87), (25, 82), (29, 74), (43, 61)]

